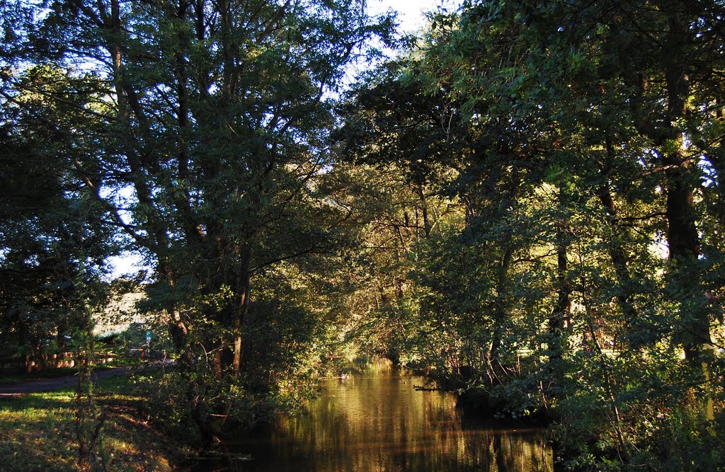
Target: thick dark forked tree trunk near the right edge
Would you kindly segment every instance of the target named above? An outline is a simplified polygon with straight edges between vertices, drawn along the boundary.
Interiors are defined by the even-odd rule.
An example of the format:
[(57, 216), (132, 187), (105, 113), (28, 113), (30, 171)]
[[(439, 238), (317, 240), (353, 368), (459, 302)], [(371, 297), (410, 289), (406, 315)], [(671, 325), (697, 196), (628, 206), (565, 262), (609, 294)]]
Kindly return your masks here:
[[(627, 52), (619, 51), (624, 64), (623, 77), (634, 87), (630, 99), (634, 124), (643, 136), (653, 142), (653, 148), (660, 153), (664, 170), (663, 189), (666, 191), (667, 242), (669, 247), (671, 286), (674, 300), (679, 303), (679, 331), (687, 362), (703, 378), (708, 378), (708, 365), (703, 354), (711, 347), (710, 322), (705, 307), (705, 293), (700, 284), (700, 236), (697, 231), (697, 214), (693, 195), (697, 177), (693, 175), (690, 158), (687, 156), (687, 142), (679, 123), (689, 112), (687, 102), (691, 95), (688, 70), (692, 67), (692, 30), (683, 13), (662, 9), (666, 15), (668, 30), (661, 43), (660, 71), (664, 75), (666, 88), (666, 110), (654, 117), (652, 110), (641, 107), (647, 103), (645, 90), (647, 80), (641, 71), (630, 67)], [(624, 34), (616, 22), (611, 23), (614, 36)], [(625, 44), (625, 41), (620, 41)], [(649, 102), (652, 102), (651, 100)], [(700, 299), (700, 301), (698, 301)], [(707, 400), (708, 417), (712, 417), (712, 399)]]

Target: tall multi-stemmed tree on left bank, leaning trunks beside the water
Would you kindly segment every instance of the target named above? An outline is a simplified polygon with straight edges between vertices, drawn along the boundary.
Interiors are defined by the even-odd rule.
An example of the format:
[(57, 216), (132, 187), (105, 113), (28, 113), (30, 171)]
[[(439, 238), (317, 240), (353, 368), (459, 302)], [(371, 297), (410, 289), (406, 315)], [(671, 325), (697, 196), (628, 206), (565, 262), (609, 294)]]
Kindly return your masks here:
[[(328, 251), (294, 212), (320, 202), (344, 66), (368, 38), (389, 40), (391, 25), (352, 0), (60, 0), (13, 43), (13, 57), (67, 67), (74, 87), (94, 89), (96, 102), (67, 110), (97, 121), (83, 129), (81, 186), (154, 264), (149, 294), (207, 437), (225, 407), (204, 405), (191, 370), (244, 377), (254, 278)], [(51, 85), (36, 89), (64, 102)], [(322, 207), (332, 220), (315, 224), (334, 225), (336, 210)]]

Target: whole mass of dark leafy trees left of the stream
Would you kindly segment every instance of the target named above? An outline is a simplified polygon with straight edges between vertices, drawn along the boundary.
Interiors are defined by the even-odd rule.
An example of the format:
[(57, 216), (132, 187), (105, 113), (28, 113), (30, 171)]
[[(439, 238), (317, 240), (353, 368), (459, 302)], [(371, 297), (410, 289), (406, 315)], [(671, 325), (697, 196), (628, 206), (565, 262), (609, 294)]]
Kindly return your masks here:
[[(62, 207), (81, 199), (92, 237), (113, 246), (84, 239), (99, 252), (83, 263), (126, 249), (153, 268), (145, 307), (162, 312), (181, 370), (168, 400), (205, 439), (247, 415), (240, 398), (263, 404), (315, 378), (337, 315), (319, 304), (323, 274), (351, 244), (334, 204), (330, 97), (370, 38), (389, 41), (391, 20), (355, 0), (1, 5), (14, 146), (3, 178), (19, 202), (1, 257), (9, 278), (38, 280), (14, 279), (28, 296), (4, 286), (6, 314), (13, 297), (58, 305), (45, 266), (83, 265), (62, 252), (78, 249)], [(36, 195), (40, 208), (22, 207)], [(43, 315), (43, 334), (65, 335)], [(25, 324), (7, 326), (37, 342)]]

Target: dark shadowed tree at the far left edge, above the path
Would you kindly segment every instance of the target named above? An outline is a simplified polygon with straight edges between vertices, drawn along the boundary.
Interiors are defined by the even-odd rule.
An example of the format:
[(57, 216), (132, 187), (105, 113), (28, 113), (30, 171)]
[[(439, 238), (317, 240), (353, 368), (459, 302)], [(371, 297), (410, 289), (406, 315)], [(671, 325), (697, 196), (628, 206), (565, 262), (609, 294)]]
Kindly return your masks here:
[[(38, 93), (41, 83), (52, 84), (59, 100)], [(64, 70), (43, 66), (28, 69), (18, 85), (17, 93), (0, 91), (4, 352), (47, 355), (70, 350), (67, 339), (86, 323), (75, 307), (78, 289), (94, 292), (104, 305), (104, 258), (117, 248), (104, 224), (107, 214), (78, 184), (83, 137), (59, 129), (93, 128), (67, 114), (89, 91), (73, 88)]]

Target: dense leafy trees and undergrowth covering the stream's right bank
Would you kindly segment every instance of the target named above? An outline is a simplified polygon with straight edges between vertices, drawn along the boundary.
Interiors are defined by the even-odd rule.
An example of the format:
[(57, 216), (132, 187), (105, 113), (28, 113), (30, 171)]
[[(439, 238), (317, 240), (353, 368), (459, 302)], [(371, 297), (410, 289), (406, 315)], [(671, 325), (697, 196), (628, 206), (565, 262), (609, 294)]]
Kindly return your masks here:
[(345, 154), (435, 215), (402, 260), (376, 252), (406, 284), (370, 336), (496, 415), (555, 418), (573, 468), (722, 468), (724, 15), (433, 15), (344, 107)]

